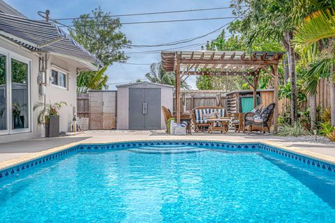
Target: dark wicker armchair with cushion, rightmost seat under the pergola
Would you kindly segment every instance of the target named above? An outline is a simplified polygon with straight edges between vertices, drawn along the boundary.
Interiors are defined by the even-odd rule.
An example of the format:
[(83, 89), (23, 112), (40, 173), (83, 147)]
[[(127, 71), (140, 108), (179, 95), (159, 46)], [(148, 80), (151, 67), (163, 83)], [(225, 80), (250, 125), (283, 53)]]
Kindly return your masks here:
[(267, 107), (258, 112), (247, 112), (244, 114), (244, 129), (248, 127), (249, 133), (253, 130), (260, 130), (265, 133), (265, 128), (270, 132), (272, 116), (274, 114), (275, 103), (271, 103)]

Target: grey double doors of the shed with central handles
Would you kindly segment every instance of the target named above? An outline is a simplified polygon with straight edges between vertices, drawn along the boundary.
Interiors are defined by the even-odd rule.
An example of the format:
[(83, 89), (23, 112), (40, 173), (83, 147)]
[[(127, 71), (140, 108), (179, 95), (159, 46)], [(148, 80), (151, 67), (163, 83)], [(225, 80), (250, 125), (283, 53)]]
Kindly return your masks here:
[(161, 89), (129, 89), (129, 129), (161, 129)]

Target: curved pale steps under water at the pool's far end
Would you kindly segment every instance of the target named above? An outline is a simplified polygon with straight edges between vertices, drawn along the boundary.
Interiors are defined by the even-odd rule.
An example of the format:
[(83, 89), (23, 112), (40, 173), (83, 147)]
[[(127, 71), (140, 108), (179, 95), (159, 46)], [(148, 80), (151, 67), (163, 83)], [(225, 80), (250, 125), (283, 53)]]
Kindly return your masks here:
[(150, 153), (150, 154), (165, 154), (165, 153), (199, 153), (202, 151), (207, 151), (206, 148), (199, 148), (199, 147), (175, 147), (175, 148), (168, 148), (167, 146), (158, 148), (157, 146), (150, 146), (150, 147), (136, 147), (136, 148), (128, 148), (128, 151), (134, 153)]

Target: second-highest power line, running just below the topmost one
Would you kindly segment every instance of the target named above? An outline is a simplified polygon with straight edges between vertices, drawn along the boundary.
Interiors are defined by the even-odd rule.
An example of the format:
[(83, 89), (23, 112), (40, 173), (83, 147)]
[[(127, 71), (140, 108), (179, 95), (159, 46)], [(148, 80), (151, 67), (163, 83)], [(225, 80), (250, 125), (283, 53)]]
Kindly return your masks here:
[[(144, 21), (144, 22), (119, 22), (114, 24), (128, 25), (128, 24), (149, 24), (149, 23), (165, 23), (165, 22), (192, 22), (192, 21), (205, 21), (205, 20), (228, 20), (237, 19), (240, 17), (211, 17), (211, 18), (197, 18), (188, 20), (159, 20), (159, 21)], [(57, 21), (57, 20), (55, 20)], [(113, 24), (113, 23), (110, 23)], [(81, 24), (77, 26), (106, 26), (106, 24)], [(75, 25), (64, 25), (60, 27), (75, 27)]]

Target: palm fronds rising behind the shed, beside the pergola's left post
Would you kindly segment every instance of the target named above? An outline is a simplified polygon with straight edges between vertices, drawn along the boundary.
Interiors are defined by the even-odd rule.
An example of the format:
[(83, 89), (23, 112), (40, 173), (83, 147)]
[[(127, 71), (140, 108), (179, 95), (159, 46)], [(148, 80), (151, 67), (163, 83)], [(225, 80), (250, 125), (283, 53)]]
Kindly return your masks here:
[[(172, 86), (175, 86), (176, 84), (174, 72), (165, 72), (161, 63), (152, 63), (150, 66), (150, 72), (148, 72), (145, 77), (147, 77), (147, 79), (153, 83), (168, 84)], [(180, 87), (181, 89), (190, 88), (186, 82), (181, 82)]]

